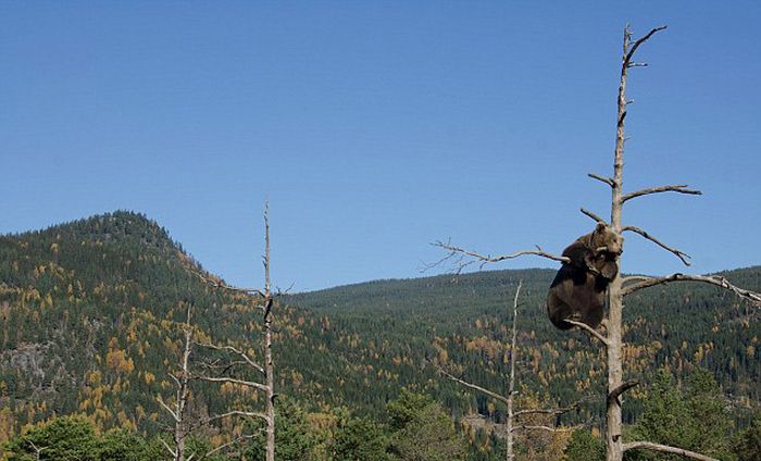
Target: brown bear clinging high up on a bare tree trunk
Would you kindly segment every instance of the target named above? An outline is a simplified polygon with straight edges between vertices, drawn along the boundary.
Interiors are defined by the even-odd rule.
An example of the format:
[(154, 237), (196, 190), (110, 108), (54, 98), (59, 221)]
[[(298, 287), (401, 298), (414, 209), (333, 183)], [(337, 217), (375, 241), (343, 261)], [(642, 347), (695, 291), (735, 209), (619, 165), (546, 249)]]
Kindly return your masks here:
[(563, 250), (569, 258), (558, 271), (547, 296), (547, 313), (554, 326), (569, 329), (565, 320), (597, 328), (604, 314), (604, 295), (619, 274), (623, 237), (604, 223)]

